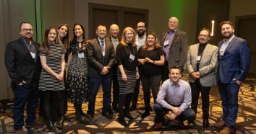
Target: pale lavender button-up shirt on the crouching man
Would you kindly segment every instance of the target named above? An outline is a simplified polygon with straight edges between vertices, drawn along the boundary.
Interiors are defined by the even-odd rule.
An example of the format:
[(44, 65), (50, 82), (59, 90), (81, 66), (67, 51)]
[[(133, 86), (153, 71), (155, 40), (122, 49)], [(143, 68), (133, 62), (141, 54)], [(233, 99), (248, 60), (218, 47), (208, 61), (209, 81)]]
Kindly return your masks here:
[(187, 81), (182, 79), (179, 79), (178, 85), (174, 85), (171, 79), (167, 79), (158, 92), (156, 102), (168, 110), (173, 105), (180, 105), (179, 109), (183, 112), (191, 104), (191, 88)]

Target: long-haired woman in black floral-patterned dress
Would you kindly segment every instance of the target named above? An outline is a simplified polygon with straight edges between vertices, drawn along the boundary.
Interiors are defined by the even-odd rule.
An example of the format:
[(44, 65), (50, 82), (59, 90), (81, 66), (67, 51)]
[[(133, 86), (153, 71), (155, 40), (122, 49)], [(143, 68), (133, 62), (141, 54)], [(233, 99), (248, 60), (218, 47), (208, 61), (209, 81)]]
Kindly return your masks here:
[(67, 55), (72, 53), (72, 59), (67, 71), (67, 91), (74, 104), (77, 121), (85, 123), (85, 113), (82, 112), (82, 103), (87, 102), (88, 86), (88, 59), (85, 29), (82, 24), (74, 24), (74, 37), (69, 43)]

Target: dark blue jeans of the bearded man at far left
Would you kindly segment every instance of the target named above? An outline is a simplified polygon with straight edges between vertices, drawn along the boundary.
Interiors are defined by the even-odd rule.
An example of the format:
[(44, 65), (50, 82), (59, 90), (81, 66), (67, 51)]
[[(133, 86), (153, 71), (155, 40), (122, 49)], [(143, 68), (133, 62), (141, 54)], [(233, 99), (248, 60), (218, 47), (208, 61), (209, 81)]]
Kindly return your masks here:
[(26, 125), (35, 123), (35, 107), (38, 104), (39, 90), (38, 86), (27, 88), (26, 86), (17, 86), (14, 92), (14, 129), (21, 130), (24, 125), (23, 113), (27, 103)]

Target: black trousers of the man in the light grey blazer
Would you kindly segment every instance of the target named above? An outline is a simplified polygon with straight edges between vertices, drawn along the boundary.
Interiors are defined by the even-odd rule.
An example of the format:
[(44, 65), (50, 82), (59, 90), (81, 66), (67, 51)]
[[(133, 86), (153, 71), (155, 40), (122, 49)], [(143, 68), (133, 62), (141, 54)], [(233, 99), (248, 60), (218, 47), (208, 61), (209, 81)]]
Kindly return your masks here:
[(192, 110), (197, 113), (197, 104), (199, 99), (199, 94), (201, 92), (202, 98), (202, 118), (208, 119), (209, 118), (209, 94), (210, 94), (210, 87), (211, 86), (202, 86), (200, 83), (200, 79), (195, 80), (195, 83), (189, 83), (191, 86), (191, 95), (192, 95), (192, 102), (191, 108)]

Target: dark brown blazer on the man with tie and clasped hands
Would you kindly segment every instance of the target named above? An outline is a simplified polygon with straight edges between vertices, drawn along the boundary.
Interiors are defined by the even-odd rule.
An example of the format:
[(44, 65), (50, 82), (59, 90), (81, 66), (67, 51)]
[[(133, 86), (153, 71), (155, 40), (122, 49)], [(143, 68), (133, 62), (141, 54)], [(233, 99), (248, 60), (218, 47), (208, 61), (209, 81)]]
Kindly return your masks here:
[[(104, 66), (109, 66), (111, 69), (111, 67), (114, 65), (114, 45), (108, 38), (105, 39), (105, 57), (103, 58), (98, 38), (90, 40), (90, 43), (88, 44), (88, 61), (88, 76), (101, 76), (101, 70)], [(111, 70), (108, 74), (106, 74), (106, 76), (109, 75), (112, 75)]]

